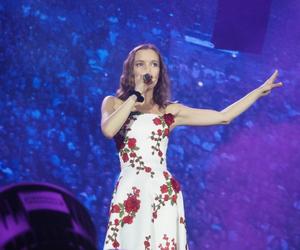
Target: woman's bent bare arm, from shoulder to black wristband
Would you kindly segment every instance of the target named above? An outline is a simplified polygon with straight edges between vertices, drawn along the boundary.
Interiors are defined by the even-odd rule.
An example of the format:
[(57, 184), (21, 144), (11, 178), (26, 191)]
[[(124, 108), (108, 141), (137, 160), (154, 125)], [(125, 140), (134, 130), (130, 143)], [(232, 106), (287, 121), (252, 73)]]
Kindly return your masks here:
[(106, 96), (101, 105), (101, 130), (109, 139), (113, 138), (127, 120), (137, 97), (132, 95), (114, 110), (116, 97)]

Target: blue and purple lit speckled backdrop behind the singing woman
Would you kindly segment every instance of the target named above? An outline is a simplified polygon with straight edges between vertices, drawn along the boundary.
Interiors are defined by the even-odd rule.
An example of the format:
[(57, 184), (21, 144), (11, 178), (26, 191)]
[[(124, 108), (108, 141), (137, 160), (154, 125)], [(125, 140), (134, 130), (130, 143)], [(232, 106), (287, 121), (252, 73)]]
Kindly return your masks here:
[(120, 169), (100, 131), (100, 105), (115, 93), (128, 52), (157, 45), (173, 100), (215, 110), (278, 68), (284, 87), (230, 125), (176, 128), (168, 166), (183, 189), (192, 250), (300, 249), (300, 3), (269, 1), (262, 47), (251, 52), (251, 38), (248, 51), (214, 47), (218, 6), (225, 16), (238, 10), (221, 2), (1, 1), (1, 186), (71, 190), (102, 249)]

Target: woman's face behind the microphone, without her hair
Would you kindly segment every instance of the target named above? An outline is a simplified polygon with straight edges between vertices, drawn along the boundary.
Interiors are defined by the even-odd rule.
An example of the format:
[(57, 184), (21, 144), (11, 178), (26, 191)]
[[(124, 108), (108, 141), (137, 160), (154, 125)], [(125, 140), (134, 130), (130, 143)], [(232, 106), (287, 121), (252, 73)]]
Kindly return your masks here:
[(149, 87), (154, 87), (159, 78), (159, 57), (152, 49), (138, 50), (134, 57), (133, 74), (140, 76), (150, 74), (152, 76), (152, 84)]

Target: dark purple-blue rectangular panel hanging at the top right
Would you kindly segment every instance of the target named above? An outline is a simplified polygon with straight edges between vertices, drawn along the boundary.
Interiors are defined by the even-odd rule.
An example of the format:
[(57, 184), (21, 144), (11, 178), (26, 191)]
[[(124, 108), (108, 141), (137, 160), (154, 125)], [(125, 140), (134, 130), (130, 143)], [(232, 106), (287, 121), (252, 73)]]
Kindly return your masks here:
[(219, 0), (212, 42), (216, 48), (260, 53), (271, 0)]

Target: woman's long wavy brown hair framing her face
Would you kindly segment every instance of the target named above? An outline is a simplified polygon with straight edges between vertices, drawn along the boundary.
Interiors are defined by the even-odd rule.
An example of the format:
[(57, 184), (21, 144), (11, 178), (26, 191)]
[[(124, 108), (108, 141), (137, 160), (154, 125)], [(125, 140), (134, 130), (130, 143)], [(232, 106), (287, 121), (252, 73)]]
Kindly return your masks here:
[(170, 80), (167, 73), (166, 65), (162, 60), (162, 56), (158, 50), (158, 48), (150, 43), (141, 44), (131, 50), (127, 56), (127, 59), (123, 64), (123, 72), (120, 77), (120, 86), (116, 92), (116, 96), (121, 100), (126, 100), (129, 96), (129, 91), (135, 88), (134, 75), (133, 75), (133, 67), (134, 67), (134, 58), (137, 51), (142, 49), (152, 49), (154, 50), (159, 57), (159, 77), (158, 82), (153, 90), (153, 101), (160, 108), (165, 108), (170, 100)]

